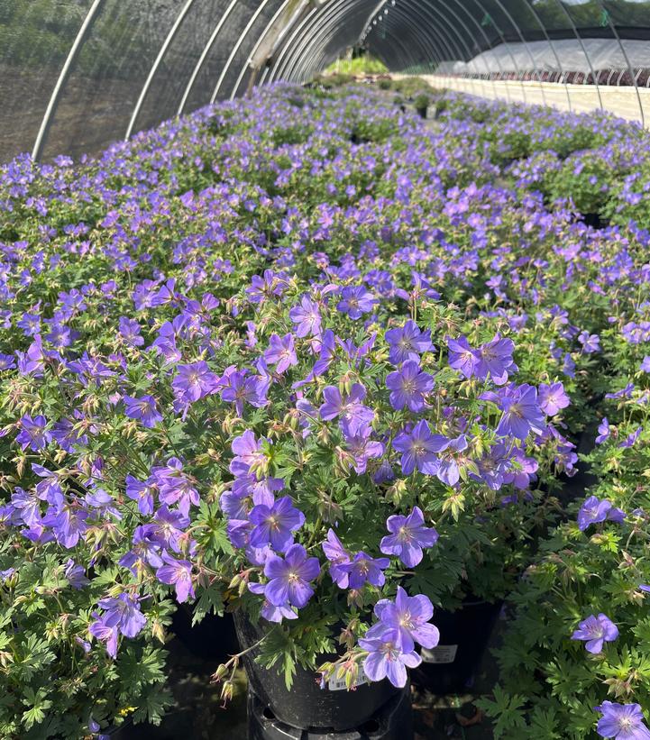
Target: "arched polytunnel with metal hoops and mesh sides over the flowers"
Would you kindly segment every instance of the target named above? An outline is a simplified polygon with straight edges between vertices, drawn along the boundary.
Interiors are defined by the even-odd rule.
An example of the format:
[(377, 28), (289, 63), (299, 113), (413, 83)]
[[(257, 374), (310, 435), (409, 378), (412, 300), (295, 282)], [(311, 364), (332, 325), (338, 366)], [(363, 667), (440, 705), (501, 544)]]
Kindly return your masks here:
[(0, 156), (100, 151), (348, 47), (446, 87), (645, 123), (641, 0), (4, 0)]

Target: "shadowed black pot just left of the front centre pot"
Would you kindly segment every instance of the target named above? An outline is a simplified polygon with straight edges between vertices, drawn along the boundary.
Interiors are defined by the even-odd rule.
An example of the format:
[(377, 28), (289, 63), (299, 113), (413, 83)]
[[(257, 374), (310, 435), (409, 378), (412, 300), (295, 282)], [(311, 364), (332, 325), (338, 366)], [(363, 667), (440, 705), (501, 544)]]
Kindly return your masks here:
[(191, 606), (180, 604), (171, 618), (171, 631), (190, 653), (206, 660), (225, 662), (238, 652), (232, 614), (223, 617), (206, 614), (195, 626), (192, 626), (192, 615)]

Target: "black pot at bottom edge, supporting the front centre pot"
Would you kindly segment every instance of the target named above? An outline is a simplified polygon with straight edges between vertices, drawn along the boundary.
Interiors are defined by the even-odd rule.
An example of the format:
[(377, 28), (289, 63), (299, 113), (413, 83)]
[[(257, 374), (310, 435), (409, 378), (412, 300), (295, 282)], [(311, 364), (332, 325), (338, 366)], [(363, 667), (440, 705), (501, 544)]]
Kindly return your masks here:
[(287, 725), (280, 722), (252, 691), (248, 694), (249, 740), (411, 740), (412, 737), (413, 713), (408, 686), (361, 726), (342, 732)]

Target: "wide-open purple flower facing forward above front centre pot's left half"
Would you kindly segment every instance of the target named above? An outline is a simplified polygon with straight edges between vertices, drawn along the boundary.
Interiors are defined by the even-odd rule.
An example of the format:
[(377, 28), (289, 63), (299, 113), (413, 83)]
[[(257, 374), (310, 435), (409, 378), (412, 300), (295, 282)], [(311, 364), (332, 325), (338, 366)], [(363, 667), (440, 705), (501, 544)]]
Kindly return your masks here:
[(314, 589), (309, 584), (320, 573), (318, 558), (308, 558), (301, 544), (292, 544), (285, 559), (270, 555), (264, 564), (264, 575), (270, 579), (264, 595), (275, 607), (291, 604), (303, 608), (312, 598)]

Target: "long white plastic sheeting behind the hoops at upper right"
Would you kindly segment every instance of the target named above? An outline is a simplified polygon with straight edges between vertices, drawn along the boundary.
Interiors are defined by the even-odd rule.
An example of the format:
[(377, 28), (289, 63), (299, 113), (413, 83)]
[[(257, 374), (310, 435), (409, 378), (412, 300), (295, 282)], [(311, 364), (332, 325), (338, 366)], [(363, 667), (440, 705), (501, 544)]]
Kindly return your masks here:
[(616, 39), (583, 39), (582, 43), (560, 39), (505, 43), (468, 62), (447, 61), (436, 71), (485, 75), (535, 69), (589, 74), (591, 69), (627, 69), (628, 63), (636, 69), (650, 68), (650, 41), (622, 40), (619, 44)]

